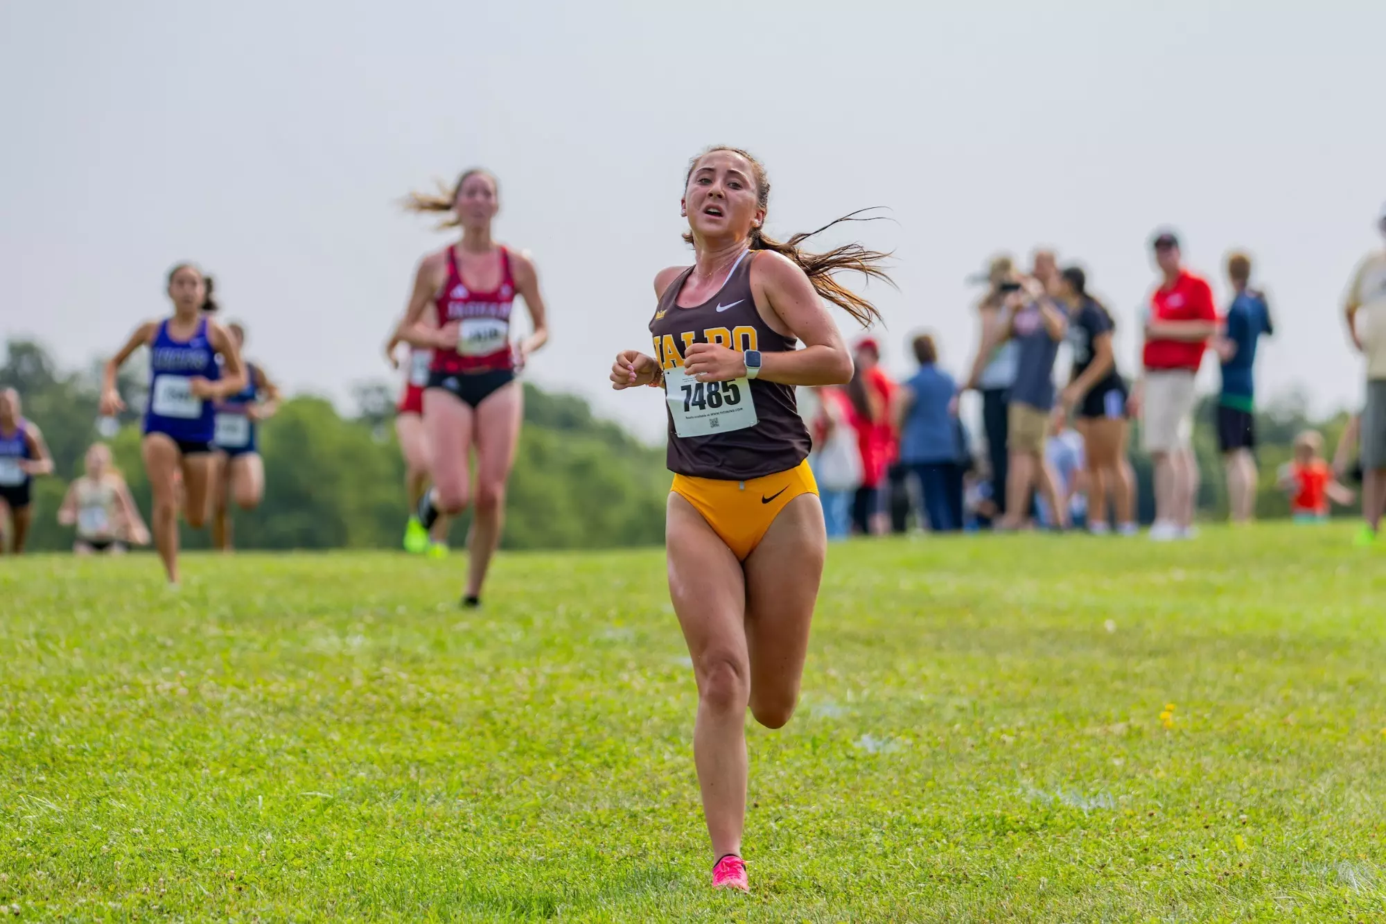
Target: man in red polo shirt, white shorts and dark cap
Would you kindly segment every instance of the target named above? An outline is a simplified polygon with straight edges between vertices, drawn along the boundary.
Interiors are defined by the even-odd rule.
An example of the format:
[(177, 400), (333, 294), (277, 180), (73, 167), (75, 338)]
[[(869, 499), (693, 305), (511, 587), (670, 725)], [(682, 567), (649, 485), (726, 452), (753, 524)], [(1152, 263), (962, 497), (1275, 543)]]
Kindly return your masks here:
[(1131, 404), (1141, 415), (1141, 438), (1155, 465), (1155, 524), (1150, 538), (1193, 534), (1199, 463), (1193, 456), (1193, 377), (1217, 332), (1213, 290), (1184, 269), (1179, 240), (1170, 232), (1152, 241), (1163, 279), (1150, 294), (1142, 368)]

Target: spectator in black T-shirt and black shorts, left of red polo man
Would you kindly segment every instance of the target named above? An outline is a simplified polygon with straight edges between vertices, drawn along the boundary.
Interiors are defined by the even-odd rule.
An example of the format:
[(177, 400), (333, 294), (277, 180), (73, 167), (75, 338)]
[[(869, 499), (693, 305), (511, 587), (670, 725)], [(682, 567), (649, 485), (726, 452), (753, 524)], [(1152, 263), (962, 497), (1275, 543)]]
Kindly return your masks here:
[(1088, 276), (1078, 266), (1063, 271), (1059, 296), (1069, 305), (1069, 347), (1073, 368), (1062, 405), (1082, 436), (1088, 461), (1088, 530), (1109, 531), (1107, 495), (1116, 508), (1117, 531), (1134, 536), (1135, 472), (1127, 459), (1127, 387), (1117, 373), (1112, 336), (1116, 323), (1106, 307), (1088, 294)]

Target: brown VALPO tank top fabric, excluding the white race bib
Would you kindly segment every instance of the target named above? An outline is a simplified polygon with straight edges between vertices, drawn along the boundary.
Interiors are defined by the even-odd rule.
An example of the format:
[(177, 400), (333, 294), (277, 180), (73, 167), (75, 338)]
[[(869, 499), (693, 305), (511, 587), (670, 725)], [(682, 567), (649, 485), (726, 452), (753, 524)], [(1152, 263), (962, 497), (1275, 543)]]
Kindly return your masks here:
[[(650, 320), (654, 358), (665, 369), (683, 365), (683, 351), (694, 343), (717, 343), (729, 350), (784, 352), (797, 340), (766, 325), (755, 309), (751, 294), (751, 264), (757, 251), (748, 251), (732, 268), (715, 296), (701, 305), (681, 308), (679, 291), (687, 282), (689, 266), (660, 296)], [(754, 426), (728, 433), (679, 437), (669, 416), (667, 465), (671, 472), (700, 479), (744, 481), (776, 472), (787, 472), (808, 458), (809, 438), (798, 416), (794, 387), (778, 382), (751, 379), (755, 404)]]

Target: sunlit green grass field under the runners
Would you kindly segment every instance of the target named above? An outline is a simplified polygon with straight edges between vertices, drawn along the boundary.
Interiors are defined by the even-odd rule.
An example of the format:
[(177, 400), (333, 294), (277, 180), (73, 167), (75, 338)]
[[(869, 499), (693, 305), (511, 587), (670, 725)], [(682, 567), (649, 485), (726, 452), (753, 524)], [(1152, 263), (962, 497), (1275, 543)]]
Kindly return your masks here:
[[(1386, 916), (1386, 555), (834, 547), (712, 893), (663, 552), (0, 559), (22, 920)], [(1163, 716), (1161, 716), (1163, 713)]]

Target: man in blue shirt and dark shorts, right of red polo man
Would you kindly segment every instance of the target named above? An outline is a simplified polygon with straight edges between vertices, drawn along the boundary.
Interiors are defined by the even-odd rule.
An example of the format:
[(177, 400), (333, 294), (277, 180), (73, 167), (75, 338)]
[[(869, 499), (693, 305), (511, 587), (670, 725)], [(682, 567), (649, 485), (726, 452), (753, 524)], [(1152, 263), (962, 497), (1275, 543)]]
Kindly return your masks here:
[(1232, 254), (1227, 276), (1236, 293), (1222, 333), (1213, 348), (1222, 359), (1222, 391), (1218, 395), (1217, 434), (1227, 468), (1228, 508), (1234, 523), (1246, 523), (1256, 512), (1256, 344), (1261, 334), (1274, 333), (1265, 296), (1250, 289), (1252, 259)]

